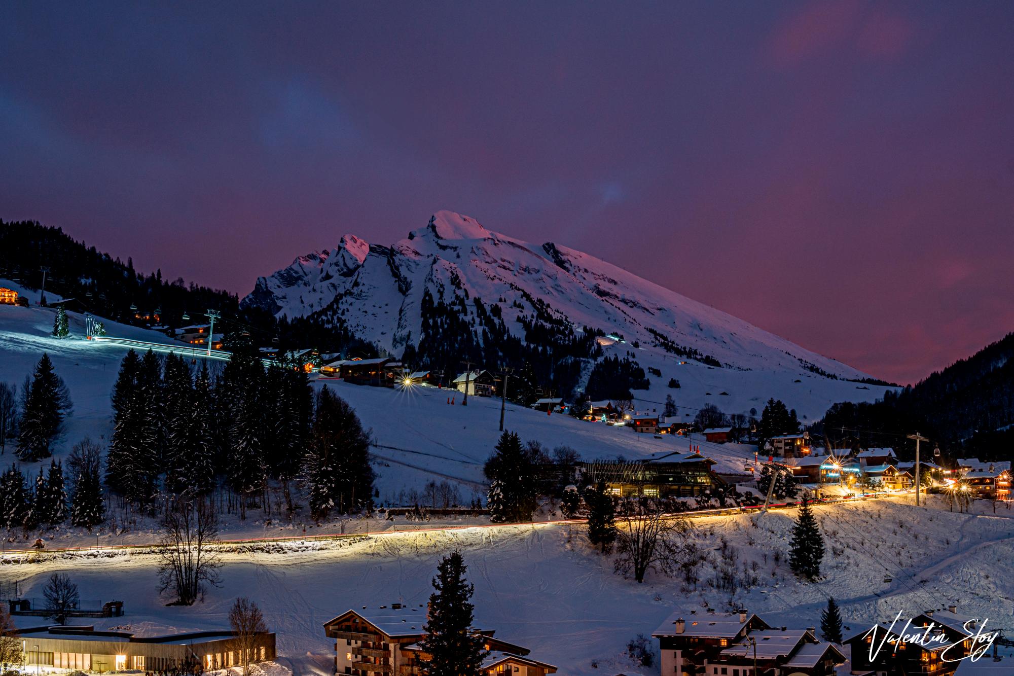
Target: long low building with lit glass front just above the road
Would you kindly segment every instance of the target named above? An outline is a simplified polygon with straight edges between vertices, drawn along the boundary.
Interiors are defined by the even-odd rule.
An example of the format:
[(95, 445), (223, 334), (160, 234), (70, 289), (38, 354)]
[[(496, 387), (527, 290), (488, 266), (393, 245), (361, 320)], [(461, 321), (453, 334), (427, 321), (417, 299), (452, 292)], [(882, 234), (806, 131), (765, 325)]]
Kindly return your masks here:
[(580, 463), (578, 482), (605, 483), (620, 497), (692, 497), (715, 486), (725, 486), (712, 466), (715, 461), (700, 453), (658, 453), (643, 460), (598, 460)]

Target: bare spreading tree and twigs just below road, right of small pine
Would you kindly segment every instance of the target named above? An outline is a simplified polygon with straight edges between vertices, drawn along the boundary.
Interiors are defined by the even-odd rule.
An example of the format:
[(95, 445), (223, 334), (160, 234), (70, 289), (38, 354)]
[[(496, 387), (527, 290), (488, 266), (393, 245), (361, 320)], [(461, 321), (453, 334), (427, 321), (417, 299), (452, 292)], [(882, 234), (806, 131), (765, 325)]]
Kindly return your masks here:
[(648, 570), (666, 576), (684, 571), (691, 555), (690, 522), (680, 515), (666, 514), (648, 498), (630, 498), (620, 508), (617, 520), (615, 570), (644, 582)]

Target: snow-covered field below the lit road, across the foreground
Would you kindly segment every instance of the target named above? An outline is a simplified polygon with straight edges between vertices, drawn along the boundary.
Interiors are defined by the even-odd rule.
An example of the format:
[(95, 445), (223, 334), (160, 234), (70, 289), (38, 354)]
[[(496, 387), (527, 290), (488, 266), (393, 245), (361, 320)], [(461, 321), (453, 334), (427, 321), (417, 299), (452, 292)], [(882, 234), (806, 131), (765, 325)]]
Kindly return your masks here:
[[(30, 598), (41, 595), (48, 574), (67, 572), (82, 598), (126, 602), (126, 617), (89, 623), (129, 624), (139, 633), (222, 627), (232, 599), (248, 596), (278, 632), (281, 662), (297, 675), (330, 673), (333, 647), (321, 624), (340, 612), (425, 604), (439, 557), (454, 547), (462, 549), (476, 586), (478, 623), (531, 648), (562, 674), (657, 673), (657, 667), (635, 667), (623, 657), (627, 641), (650, 634), (676, 607), (703, 610), (705, 604), (744, 606), (774, 623), (811, 626), (834, 596), (846, 624), (858, 632), (898, 611), (909, 616), (954, 603), (959, 612), (990, 618), (994, 628), (1014, 626), (1014, 520), (1006, 515), (917, 510), (906, 498), (815, 511), (827, 544), (825, 577), (817, 584), (799, 583), (788, 570), (793, 512), (695, 520), (694, 537), (712, 551), (702, 582), (690, 590), (657, 576), (639, 585), (614, 574), (611, 559), (589, 550), (576, 526), (392, 534), (355, 544), (226, 554), (222, 587), (190, 608), (163, 605), (149, 554), (0, 565), (0, 581), (20, 581)], [(724, 554), (717, 551), (723, 541)], [(738, 589), (713, 589), (709, 581), (733, 557)], [(885, 574), (892, 582), (884, 583)], [(746, 577), (755, 582), (744, 586)]]

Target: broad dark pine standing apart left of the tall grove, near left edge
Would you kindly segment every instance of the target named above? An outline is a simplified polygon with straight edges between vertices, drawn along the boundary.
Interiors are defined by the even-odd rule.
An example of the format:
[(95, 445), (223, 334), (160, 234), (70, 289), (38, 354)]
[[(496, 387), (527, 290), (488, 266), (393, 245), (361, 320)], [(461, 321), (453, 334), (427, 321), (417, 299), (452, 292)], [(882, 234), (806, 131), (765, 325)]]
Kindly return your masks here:
[(24, 462), (50, 456), (50, 445), (70, 414), (70, 394), (63, 379), (56, 375), (49, 354), (35, 364), (30, 384), (22, 392), (20, 434), (15, 455)]

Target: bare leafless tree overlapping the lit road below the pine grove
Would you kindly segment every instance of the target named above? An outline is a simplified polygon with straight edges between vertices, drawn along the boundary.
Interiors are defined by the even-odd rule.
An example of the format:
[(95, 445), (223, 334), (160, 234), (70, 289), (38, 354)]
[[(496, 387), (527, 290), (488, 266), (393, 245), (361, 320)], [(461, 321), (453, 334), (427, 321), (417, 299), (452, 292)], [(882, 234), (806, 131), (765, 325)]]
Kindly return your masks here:
[(173, 499), (162, 521), (160, 592), (172, 591), (176, 604), (190, 606), (201, 598), (205, 585), (218, 586), (222, 561), (212, 548), (217, 539), (218, 519), (211, 502), (186, 493)]

